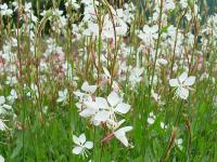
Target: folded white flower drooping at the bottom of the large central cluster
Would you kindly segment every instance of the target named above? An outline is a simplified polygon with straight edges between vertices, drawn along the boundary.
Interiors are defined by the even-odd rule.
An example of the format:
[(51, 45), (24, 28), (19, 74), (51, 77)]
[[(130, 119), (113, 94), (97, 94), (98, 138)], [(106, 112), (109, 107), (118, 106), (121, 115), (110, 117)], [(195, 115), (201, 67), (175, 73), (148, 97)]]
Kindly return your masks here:
[(126, 133), (131, 131), (132, 126), (125, 126), (114, 132), (115, 137), (122, 141), (126, 147), (129, 146), (128, 139), (126, 137)]

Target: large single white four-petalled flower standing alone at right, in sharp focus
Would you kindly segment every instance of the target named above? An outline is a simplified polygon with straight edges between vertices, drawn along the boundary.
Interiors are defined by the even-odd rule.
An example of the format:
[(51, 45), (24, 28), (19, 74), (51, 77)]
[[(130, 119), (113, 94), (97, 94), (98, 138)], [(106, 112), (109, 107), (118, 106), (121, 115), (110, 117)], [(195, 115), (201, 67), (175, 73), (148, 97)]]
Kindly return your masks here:
[(178, 79), (170, 79), (169, 85), (177, 87), (176, 95), (178, 95), (182, 99), (187, 99), (189, 96), (190, 85), (193, 85), (195, 82), (195, 77), (188, 77), (187, 72), (183, 72), (179, 76)]

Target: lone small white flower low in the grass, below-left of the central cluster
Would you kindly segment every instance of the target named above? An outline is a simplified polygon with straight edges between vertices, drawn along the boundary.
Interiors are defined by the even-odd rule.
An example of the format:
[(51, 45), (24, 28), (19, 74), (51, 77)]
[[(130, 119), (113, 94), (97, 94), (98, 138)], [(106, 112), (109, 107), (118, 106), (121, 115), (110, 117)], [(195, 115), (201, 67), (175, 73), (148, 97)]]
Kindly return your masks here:
[(81, 154), (87, 157), (88, 149), (92, 149), (93, 143), (86, 141), (86, 135), (81, 134), (79, 137), (73, 135), (73, 141), (76, 146), (73, 149), (74, 154)]

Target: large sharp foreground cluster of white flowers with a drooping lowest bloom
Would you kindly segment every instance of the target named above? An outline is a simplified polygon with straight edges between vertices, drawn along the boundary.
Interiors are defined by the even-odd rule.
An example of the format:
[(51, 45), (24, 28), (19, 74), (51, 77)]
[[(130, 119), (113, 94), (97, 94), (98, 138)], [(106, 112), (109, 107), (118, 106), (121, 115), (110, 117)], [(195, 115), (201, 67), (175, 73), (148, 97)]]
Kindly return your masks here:
[[(115, 91), (111, 92), (110, 95), (104, 97), (94, 96), (97, 85), (89, 85), (85, 82), (81, 86), (81, 91), (75, 92), (79, 102), (76, 104), (78, 107), (79, 116), (82, 118), (90, 119), (90, 123), (95, 126), (106, 126), (112, 133), (108, 137), (114, 135), (119, 139), (126, 147), (129, 143), (126, 138), (126, 132), (131, 131), (132, 126), (119, 127), (125, 120), (119, 120), (130, 110), (130, 105), (123, 102)], [(102, 141), (106, 141), (107, 137), (103, 138)]]

